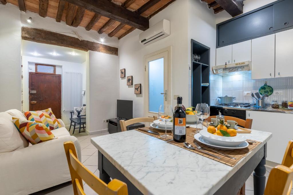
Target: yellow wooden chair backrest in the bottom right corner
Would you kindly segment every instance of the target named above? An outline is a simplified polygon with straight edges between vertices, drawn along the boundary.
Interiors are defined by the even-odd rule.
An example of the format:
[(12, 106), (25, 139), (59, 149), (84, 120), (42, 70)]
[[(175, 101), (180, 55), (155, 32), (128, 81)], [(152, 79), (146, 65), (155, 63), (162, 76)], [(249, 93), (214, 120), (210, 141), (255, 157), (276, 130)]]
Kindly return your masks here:
[(293, 179), (293, 140), (290, 140), (282, 165), (272, 168), (264, 195), (289, 195), (292, 190)]

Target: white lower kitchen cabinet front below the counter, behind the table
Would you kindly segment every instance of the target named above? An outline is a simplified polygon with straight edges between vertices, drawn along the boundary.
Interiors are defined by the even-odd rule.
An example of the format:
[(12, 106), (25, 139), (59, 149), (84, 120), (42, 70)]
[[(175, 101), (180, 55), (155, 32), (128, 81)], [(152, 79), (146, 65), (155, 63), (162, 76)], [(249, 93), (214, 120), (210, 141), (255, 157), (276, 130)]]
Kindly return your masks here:
[(293, 114), (246, 111), (246, 118), (253, 119), (251, 129), (272, 133), (267, 144), (267, 160), (281, 164), (287, 144), (293, 137), (292, 128), (288, 126)]

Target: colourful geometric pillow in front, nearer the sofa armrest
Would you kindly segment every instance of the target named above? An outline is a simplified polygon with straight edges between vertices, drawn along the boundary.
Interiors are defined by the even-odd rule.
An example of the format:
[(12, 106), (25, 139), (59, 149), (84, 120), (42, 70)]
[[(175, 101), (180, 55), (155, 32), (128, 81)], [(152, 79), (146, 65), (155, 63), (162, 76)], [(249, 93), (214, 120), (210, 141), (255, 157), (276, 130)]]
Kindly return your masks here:
[(12, 121), (19, 132), (31, 144), (38, 144), (40, 142), (54, 139), (54, 134), (42, 123), (31, 122), (12, 117)]

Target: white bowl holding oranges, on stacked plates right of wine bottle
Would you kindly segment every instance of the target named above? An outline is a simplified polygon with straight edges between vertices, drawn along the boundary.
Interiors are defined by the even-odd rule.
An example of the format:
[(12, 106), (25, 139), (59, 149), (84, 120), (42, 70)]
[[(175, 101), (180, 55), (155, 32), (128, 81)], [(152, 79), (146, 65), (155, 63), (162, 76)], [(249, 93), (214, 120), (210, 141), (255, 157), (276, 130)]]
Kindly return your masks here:
[(206, 141), (210, 142), (211, 144), (215, 144), (217, 146), (225, 146), (225, 147), (238, 146), (243, 141), (246, 141), (246, 137), (240, 133), (237, 133), (237, 135), (234, 137), (224, 137), (224, 136), (211, 134), (207, 132), (206, 129), (203, 129), (200, 131), (200, 134), (203, 136), (203, 138)]

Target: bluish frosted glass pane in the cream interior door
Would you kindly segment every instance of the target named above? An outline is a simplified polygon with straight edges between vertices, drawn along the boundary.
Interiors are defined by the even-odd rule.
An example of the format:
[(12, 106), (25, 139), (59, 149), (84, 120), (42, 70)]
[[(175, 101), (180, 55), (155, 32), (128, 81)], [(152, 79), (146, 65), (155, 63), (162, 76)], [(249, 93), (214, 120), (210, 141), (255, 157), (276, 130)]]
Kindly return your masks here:
[(158, 112), (164, 104), (164, 58), (149, 62), (149, 111)]

